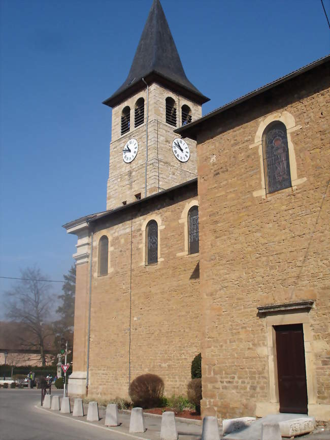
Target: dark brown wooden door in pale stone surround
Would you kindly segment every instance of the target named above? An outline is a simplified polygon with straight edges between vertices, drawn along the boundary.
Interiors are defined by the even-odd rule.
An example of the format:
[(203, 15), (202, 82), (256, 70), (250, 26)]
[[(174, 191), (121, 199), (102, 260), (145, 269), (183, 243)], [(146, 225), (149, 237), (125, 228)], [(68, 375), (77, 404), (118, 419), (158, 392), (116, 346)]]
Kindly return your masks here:
[(307, 414), (303, 324), (275, 326), (280, 413)]

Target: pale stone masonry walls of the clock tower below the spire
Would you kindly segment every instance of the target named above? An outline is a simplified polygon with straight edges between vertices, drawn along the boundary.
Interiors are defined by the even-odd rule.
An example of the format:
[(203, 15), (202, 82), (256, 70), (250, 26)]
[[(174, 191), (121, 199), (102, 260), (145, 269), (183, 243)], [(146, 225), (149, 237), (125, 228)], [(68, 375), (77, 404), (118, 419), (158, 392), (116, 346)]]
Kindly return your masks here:
[[(170, 90), (153, 83), (149, 87), (149, 123), (148, 123), (148, 163), (147, 196), (161, 190), (186, 182), (196, 177), (196, 142), (187, 140), (190, 147), (190, 159), (179, 162), (172, 152), (172, 142), (178, 137), (173, 130), (177, 127), (166, 122), (166, 98), (171, 97), (177, 106), (177, 127), (181, 124), (181, 107), (186, 104), (191, 108), (193, 120), (201, 116), (202, 108)], [(144, 98), (144, 123), (134, 128), (134, 108), (139, 98)], [(121, 112), (130, 107), (130, 130), (121, 135)], [(145, 196), (146, 163), (146, 121), (147, 93), (142, 90), (133, 97), (113, 108), (112, 141), (110, 144), (109, 179), (107, 184), (107, 209), (118, 207), (122, 202), (134, 202), (135, 195)], [(122, 150), (126, 142), (134, 138), (139, 150), (130, 164), (122, 159)]]

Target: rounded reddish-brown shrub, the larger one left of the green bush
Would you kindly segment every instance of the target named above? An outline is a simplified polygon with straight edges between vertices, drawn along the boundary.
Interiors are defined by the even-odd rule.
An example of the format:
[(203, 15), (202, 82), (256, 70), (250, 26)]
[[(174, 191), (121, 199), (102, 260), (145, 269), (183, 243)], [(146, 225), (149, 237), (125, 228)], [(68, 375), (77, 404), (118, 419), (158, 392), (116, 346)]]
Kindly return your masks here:
[(142, 374), (131, 382), (128, 393), (134, 406), (154, 408), (161, 404), (164, 382), (156, 374)]

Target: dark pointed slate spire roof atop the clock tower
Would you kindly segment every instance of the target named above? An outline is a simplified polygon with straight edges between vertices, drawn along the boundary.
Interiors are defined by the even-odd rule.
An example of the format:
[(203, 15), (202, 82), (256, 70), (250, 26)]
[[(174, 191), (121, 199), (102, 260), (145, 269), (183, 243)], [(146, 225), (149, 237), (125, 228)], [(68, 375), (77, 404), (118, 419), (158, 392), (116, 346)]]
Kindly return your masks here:
[(161, 84), (186, 98), (203, 104), (209, 101), (186, 77), (169, 24), (159, 0), (153, 0), (147, 22), (126, 81), (103, 104), (114, 107), (150, 84)]

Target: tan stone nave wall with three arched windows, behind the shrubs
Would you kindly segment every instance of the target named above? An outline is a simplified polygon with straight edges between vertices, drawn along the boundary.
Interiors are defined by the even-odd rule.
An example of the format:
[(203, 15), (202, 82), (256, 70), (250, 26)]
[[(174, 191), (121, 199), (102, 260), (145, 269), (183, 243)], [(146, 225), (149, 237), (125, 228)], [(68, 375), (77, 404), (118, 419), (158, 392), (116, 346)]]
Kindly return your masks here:
[[(132, 220), (128, 211), (97, 226), (89, 397), (128, 397), (129, 380), (147, 372), (163, 379), (167, 395), (186, 394), (191, 361), (201, 351), (199, 254), (177, 256), (185, 246), (185, 225), (179, 220), (192, 200), (197, 200), (196, 188), (175, 200), (157, 199), (134, 212)], [(144, 234), (151, 218), (159, 228), (159, 261), (148, 266)], [(97, 276), (98, 241), (105, 234), (109, 238), (109, 273)]]

